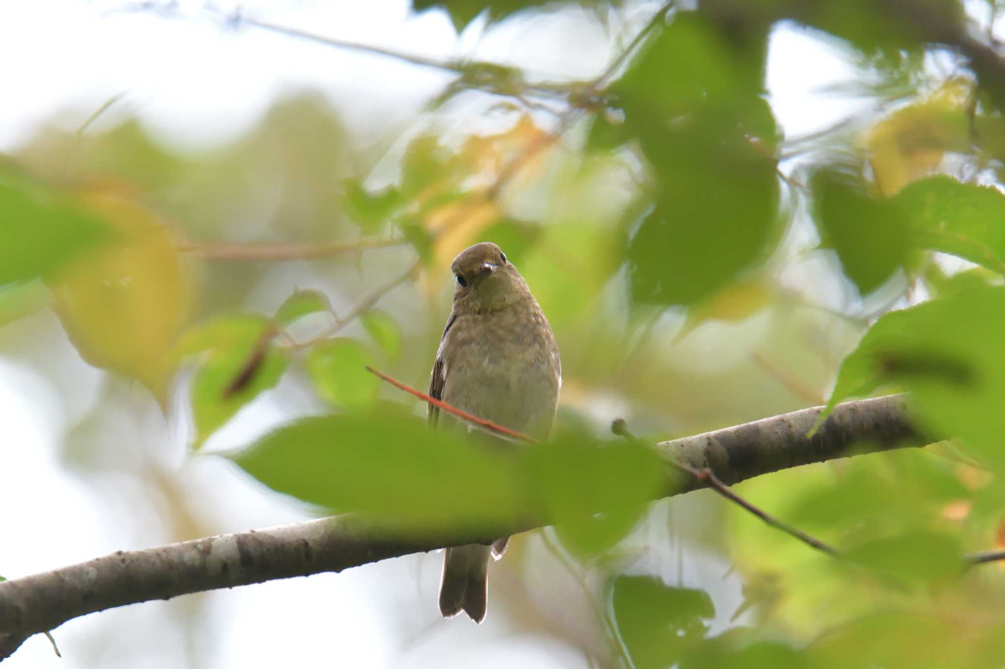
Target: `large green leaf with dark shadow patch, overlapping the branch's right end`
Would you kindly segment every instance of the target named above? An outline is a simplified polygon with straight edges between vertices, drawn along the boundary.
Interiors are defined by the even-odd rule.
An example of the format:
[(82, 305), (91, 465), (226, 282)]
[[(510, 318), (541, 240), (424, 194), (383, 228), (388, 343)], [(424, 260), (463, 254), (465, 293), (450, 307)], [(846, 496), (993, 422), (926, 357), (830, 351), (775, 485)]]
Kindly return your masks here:
[(989, 463), (1005, 465), (1003, 340), (1005, 288), (886, 314), (841, 363), (823, 416), (842, 399), (896, 384), (912, 391), (919, 420), (934, 434), (960, 437)]

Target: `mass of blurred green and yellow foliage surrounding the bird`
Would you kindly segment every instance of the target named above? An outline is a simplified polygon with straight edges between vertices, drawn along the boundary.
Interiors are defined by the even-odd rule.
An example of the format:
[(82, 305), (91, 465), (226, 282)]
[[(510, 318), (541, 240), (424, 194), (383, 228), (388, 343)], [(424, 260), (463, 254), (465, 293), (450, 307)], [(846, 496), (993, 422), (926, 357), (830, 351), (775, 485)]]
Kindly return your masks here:
[[(413, 2), (458, 31), (570, 7), (595, 10), (601, 28), (624, 9)], [(1005, 581), (994, 567), (964, 573), (960, 556), (1005, 542), (1005, 64), (967, 10), (681, 3), (603, 79), (529, 83), (509, 64), (446, 63), (423, 122), (378, 140), (310, 93), (201, 153), (136, 119), (83, 139), (44, 128), (0, 176), (0, 325), (52, 302), (91, 364), (161, 400), (168, 381), (183, 385), (194, 446), (280, 380), (307, 389), (293, 412), (309, 395), (321, 415), (229, 456), (319, 513), (489, 534), (549, 519), (606, 584), (595, 632), (626, 667), (999, 666)], [(855, 72), (835, 94), (871, 110), (787, 136), (765, 83), (782, 29), (834, 46)], [(463, 106), (477, 91), (495, 116)], [(497, 123), (470, 131), (458, 109)], [(128, 220), (88, 207), (94, 183), (135, 205), (117, 210)], [(134, 229), (156, 244), (116, 239)], [(424, 407), (389, 401), (405, 398), (365, 370), (424, 387), (449, 263), (485, 240), (520, 268), (562, 348), (547, 448), (428, 432)], [(330, 251), (283, 257), (287, 243)], [(743, 601), (730, 611), (713, 586), (669, 585), (663, 566), (679, 556), (648, 532), (666, 471), (597, 433), (619, 413), (640, 432), (696, 433), (815, 403), (832, 381), (828, 407), (910, 390), (921, 423), (952, 442), (740, 485), (842, 560), (701, 498), (706, 515), (674, 532), (735, 568)]]

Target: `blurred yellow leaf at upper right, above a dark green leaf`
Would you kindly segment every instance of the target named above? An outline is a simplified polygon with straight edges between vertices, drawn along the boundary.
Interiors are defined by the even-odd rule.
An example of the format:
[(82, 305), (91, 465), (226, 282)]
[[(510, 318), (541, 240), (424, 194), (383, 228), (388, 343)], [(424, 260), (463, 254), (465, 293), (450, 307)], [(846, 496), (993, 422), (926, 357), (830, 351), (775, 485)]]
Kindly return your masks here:
[(949, 79), (931, 95), (889, 114), (868, 131), (865, 147), (884, 196), (934, 173), (947, 151), (969, 142), (967, 105), (973, 83)]

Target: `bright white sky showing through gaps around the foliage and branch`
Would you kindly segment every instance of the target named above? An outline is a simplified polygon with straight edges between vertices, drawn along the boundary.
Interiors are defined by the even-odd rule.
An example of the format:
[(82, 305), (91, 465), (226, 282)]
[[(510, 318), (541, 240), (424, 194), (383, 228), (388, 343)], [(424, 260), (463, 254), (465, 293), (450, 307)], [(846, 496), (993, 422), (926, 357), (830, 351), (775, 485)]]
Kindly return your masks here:
[[(149, 13), (103, 15), (99, 11), (124, 4), (3, 3), (0, 151), (16, 148), (57, 111), (62, 114), (61, 122), (76, 127), (119, 93), (124, 97), (99, 123), (138, 114), (175, 144), (197, 147), (228, 141), (252, 126), (278, 92), (298, 86), (331, 92), (351, 131), (376, 136), (414, 116), (418, 106), (448, 80), (435, 70), (387, 58), (334, 50), (252, 28), (234, 32), (205, 17), (175, 20)], [(181, 4), (185, 8), (202, 5)], [(502, 26), (484, 39), (478, 39), (474, 29), (458, 40), (444, 14), (412, 16), (408, 6), (406, 0), (243, 3), (248, 14), (332, 37), (435, 57), (469, 54), (523, 62), (556, 78), (587, 77), (608, 57), (605, 36), (596, 31), (584, 33), (578, 24), (585, 24), (585, 18), (576, 11), (567, 12), (558, 28), (554, 22), (535, 20)], [(652, 5), (629, 6), (633, 9), (628, 16), (637, 29)], [(809, 132), (848, 113), (846, 103), (838, 104), (813, 91), (850, 74), (839, 52), (807, 33), (778, 32), (768, 81), (775, 111), (787, 132)], [(352, 106), (345, 103), (347, 99), (353, 100)], [(130, 520), (134, 510), (128, 508), (129, 498), (97, 500), (92, 489), (59, 463), (59, 436), (85, 413), (102, 375), (78, 359), (72, 362), (75, 353), (64, 339), (53, 344), (52, 355), (69, 361), (73, 383), (80, 388), (76, 399), (67, 401), (54, 392), (23, 362), (0, 358), (5, 473), (0, 485), (0, 509), (5, 512), (0, 574), (7, 577), (144, 546), (130, 544), (144, 534), (131, 525), (136, 521)], [(59, 403), (66, 404), (64, 423), (54, 422), (57, 412), (47, 408)], [(282, 415), (267, 401), (257, 403), (256, 411), (256, 423)], [(133, 436), (142, 439), (146, 433), (141, 425)], [(165, 444), (165, 452), (169, 454), (159, 464), (178, 472), (181, 486), (194, 504), (213, 509), (221, 529), (243, 531), (306, 518), (222, 462), (201, 458), (183, 463), (180, 443)], [(123, 487), (110, 484), (109, 489), (121, 494)], [(120, 522), (129, 527), (120, 527)], [(159, 543), (156, 534), (146, 541), (148, 546)], [(429, 646), (400, 655), (402, 640), (393, 638), (393, 628), (384, 620), (400, 601), (382, 592), (381, 585), (400, 580), (402, 570), (418, 574), (424, 584), (421, 595), (430, 603), (421, 615), (428, 614), (433, 624), (438, 561), (439, 556), (391, 561), (342, 575), (215, 593), (210, 597), (210, 615), (223, 624), (209, 629), (222, 636), (204, 640), (205, 647), (214, 650), (202, 666), (315, 666), (319, 648), (336, 643), (340, 656), (357, 656), (352, 666), (447, 666), (444, 657), (453, 635), (469, 641), (473, 634), (481, 635), (478, 644), (482, 648), (492, 649), (496, 666), (518, 662), (523, 669), (559, 663), (584, 666), (573, 649), (544, 647), (534, 640), (511, 643), (505, 627), (491, 616), (482, 628), (453, 621), (456, 625), (447, 633), (437, 633)], [(724, 571), (725, 567), (718, 574)], [(726, 590), (721, 597), (736, 600), (739, 581), (723, 583)], [(730, 611), (726, 608), (727, 617)], [(114, 666), (117, 661), (131, 667), (177, 666), (177, 648), (164, 649), (179, 640), (122, 639), (115, 630), (127, 620), (156, 628), (158, 616), (183, 615), (179, 612), (184, 608), (178, 605), (148, 603), (72, 621), (55, 632), (65, 655), (62, 660), (54, 657), (43, 637), (34, 637), (5, 666), (75, 669)], [(333, 630), (344, 633), (336, 640)], [(95, 634), (118, 639), (108, 657), (74, 652), (77, 642)], [(198, 649), (194, 654), (199, 654)], [(453, 663), (467, 666), (463, 658), (454, 658)]]

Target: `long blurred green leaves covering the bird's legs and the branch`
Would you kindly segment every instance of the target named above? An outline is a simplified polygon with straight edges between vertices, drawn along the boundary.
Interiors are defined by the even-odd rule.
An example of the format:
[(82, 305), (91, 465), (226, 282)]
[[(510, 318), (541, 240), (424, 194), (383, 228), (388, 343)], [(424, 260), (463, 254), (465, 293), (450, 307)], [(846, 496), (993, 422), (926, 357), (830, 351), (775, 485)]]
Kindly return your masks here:
[[(413, 529), (580, 519), (654, 494), (663, 472), (644, 446), (511, 443), (433, 430), (393, 405), (309, 418), (231, 457), (279, 492), (340, 513), (366, 512)], [(640, 452), (644, 449), (646, 452)], [(653, 459), (656, 463), (654, 465)], [(655, 472), (655, 473), (653, 473)]]

